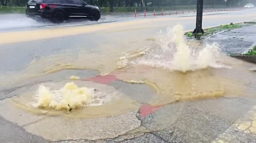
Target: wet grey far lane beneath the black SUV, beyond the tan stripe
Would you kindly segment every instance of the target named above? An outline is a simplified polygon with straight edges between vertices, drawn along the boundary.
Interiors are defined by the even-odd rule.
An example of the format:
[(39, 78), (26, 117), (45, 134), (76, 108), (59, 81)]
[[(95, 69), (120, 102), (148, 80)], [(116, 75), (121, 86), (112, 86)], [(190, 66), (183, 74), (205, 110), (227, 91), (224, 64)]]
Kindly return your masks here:
[[(218, 10), (218, 9), (217, 9)], [(220, 10), (220, 9), (219, 9)], [(244, 15), (249, 11), (253, 12), (255, 9), (247, 10), (229, 10), (229, 11), (207, 11), (203, 15)], [(171, 17), (171, 18), (181, 18), (181, 17), (194, 17), (196, 14), (194, 9), (191, 10), (178, 10), (176, 11), (165, 11), (162, 16), (162, 12), (156, 12), (154, 17), (154, 12), (146, 12), (146, 17), (144, 17), (143, 12), (137, 12), (136, 19), (145, 19), (145, 18), (159, 18), (159, 17)], [(102, 14), (102, 17), (97, 22), (91, 22), (89, 20), (67, 20), (62, 24), (54, 24), (48, 20), (43, 20), (42, 22), (37, 22), (31, 20), (31, 18), (26, 18), (24, 14), (5, 14), (0, 15), (0, 32), (8, 31), (28, 31), (40, 28), (54, 28), (54, 27), (69, 27), (69, 26), (91, 26), (97, 24), (108, 24), (116, 22), (125, 22), (136, 20), (135, 14), (133, 12), (118, 14)]]

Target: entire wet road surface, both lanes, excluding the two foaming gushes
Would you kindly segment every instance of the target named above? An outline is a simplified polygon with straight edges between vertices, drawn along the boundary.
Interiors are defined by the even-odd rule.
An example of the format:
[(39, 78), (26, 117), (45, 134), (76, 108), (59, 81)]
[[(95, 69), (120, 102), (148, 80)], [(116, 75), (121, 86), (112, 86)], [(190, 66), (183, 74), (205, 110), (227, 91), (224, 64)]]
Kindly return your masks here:
[[(205, 13), (203, 27), (254, 20), (255, 12)], [(136, 59), (148, 48), (170, 47), (169, 39), (176, 35), (168, 35), (168, 27), (181, 24), (185, 31), (193, 30), (194, 14), (155, 18), (106, 15), (98, 23), (75, 21), (61, 25), (35, 23), (23, 15), (1, 15), (1, 20), (1, 142), (256, 142), (256, 127), (249, 121), (255, 112), (255, 73), (249, 71), (254, 65), (227, 58), (225, 63), (233, 69), (210, 68), (181, 74), (155, 71), (150, 66), (129, 69), (122, 61), (121, 57)], [(119, 66), (124, 66), (124, 71)], [(145, 84), (129, 83), (140, 79), (137, 74), (162, 86), (157, 88), (154, 82), (144, 80)], [(70, 82), (72, 75), (80, 77), (75, 80), (79, 86), (121, 98), (102, 107), (71, 112), (32, 106), (39, 85), (59, 89)], [(223, 80), (225, 77), (232, 80)], [(238, 77), (242, 78), (240, 82)], [(156, 89), (164, 94), (169, 89), (166, 85), (181, 90), (178, 85), (184, 83), (178, 82), (187, 78), (199, 81), (196, 84), (202, 87), (225, 83), (228, 95), (180, 102), (166, 101), (173, 98), (158, 95)], [(178, 84), (166, 84), (168, 79)], [(233, 94), (239, 96), (227, 98)], [(243, 131), (236, 131), (239, 129)]]

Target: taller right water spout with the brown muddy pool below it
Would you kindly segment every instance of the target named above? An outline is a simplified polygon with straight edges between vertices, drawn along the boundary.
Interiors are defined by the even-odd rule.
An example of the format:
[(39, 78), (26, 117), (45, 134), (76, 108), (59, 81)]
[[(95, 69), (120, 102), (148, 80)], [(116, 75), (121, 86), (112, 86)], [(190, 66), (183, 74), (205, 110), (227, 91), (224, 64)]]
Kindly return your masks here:
[(177, 25), (167, 28), (167, 36), (159, 39), (158, 45), (145, 50), (143, 57), (130, 61), (125, 72), (114, 73), (118, 80), (144, 83), (156, 90), (157, 95), (148, 104), (159, 106), (174, 101), (243, 94), (244, 82), (223, 76), (232, 66), (224, 64), (227, 56), (220, 52), (217, 44), (189, 42), (183, 26)]

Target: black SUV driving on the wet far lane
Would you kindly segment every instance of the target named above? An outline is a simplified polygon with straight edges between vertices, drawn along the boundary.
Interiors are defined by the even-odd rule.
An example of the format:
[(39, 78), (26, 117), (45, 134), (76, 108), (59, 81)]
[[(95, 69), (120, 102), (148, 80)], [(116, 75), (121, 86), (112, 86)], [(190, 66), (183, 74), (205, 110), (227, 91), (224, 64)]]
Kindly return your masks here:
[(26, 16), (34, 20), (48, 19), (53, 23), (63, 23), (68, 19), (100, 18), (99, 7), (86, 4), (81, 0), (29, 0)]

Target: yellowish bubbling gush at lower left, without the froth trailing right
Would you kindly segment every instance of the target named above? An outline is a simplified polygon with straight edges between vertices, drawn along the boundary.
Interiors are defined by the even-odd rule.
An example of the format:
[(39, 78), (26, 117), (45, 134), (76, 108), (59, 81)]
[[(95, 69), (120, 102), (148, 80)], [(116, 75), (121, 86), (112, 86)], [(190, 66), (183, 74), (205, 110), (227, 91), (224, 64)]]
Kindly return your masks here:
[(76, 109), (91, 103), (92, 91), (89, 88), (78, 88), (74, 82), (68, 82), (64, 88), (51, 91), (44, 85), (39, 86), (36, 107), (61, 109)]

